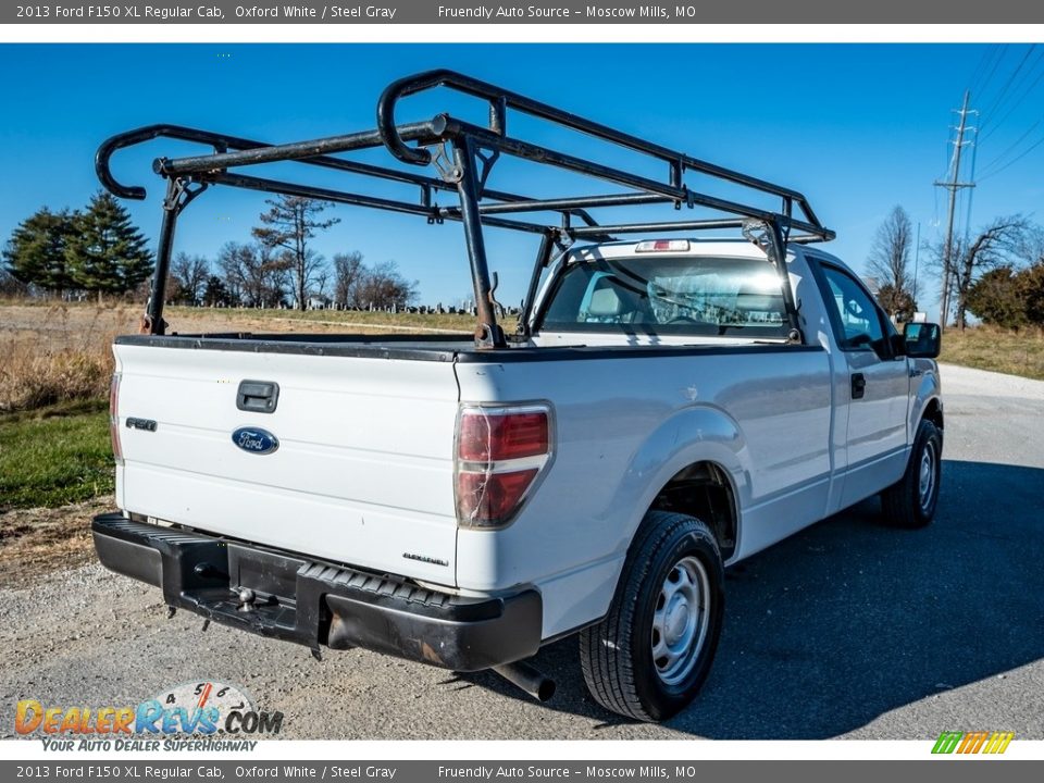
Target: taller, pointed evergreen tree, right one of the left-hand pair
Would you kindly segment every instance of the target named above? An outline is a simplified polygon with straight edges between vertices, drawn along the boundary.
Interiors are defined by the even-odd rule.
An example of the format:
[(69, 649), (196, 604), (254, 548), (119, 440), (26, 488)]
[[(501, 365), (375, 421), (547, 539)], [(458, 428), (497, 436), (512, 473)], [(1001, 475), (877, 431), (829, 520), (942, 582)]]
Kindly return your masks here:
[(80, 288), (102, 294), (123, 294), (140, 285), (152, 272), (152, 253), (130, 215), (105, 192), (90, 200), (75, 222), (65, 258), (73, 281)]

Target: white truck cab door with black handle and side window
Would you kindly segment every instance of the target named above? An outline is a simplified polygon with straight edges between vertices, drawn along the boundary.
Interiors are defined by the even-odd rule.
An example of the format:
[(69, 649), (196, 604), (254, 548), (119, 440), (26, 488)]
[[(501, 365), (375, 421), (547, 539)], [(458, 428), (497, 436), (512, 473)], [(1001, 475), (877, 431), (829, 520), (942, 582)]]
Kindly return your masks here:
[(847, 270), (820, 263), (821, 285), (843, 361), (848, 365), (848, 459), (841, 508), (896, 482), (906, 467), (909, 373), (895, 356), (891, 322)]

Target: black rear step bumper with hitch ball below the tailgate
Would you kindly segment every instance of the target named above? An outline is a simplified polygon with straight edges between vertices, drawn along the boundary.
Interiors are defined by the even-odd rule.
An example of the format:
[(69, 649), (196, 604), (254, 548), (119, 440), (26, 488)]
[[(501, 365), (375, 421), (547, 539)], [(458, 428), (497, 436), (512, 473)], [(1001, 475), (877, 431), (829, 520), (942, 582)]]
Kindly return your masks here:
[[(169, 606), (261, 636), (312, 649), (362, 647), (455, 671), (522, 660), (540, 646), (536, 591), (464, 598), (120, 513), (96, 517), (91, 530), (105, 568), (162, 588)], [(244, 592), (253, 599), (244, 604)]]

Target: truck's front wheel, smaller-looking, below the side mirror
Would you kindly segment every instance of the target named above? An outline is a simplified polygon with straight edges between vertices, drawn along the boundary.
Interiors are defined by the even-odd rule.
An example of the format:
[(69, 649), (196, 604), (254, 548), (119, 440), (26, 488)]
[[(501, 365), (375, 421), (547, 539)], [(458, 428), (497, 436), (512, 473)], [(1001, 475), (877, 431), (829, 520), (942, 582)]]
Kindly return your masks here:
[(881, 511), (885, 522), (908, 530), (931, 524), (939, 505), (942, 456), (942, 433), (934, 422), (922, 420), (917, 427), (906, 472), (899, 481), (881, 493)]

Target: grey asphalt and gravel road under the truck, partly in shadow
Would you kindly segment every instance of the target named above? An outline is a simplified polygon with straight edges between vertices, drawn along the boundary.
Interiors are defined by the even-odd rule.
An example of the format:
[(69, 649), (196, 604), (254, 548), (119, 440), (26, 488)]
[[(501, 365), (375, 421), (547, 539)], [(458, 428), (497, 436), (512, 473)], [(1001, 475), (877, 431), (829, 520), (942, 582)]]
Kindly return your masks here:
[(558, 682), (540, 706), (493, 674), (202, 633), (90, 566), (0, 591), (0, 734), (21, 698), (119, 706), (217, 680), (293, 738), (1044, 738), (1044, 383), (945, 366), (943, 386), (935, 523), (887, 529), (867, 501), (732, 569), (714, 668), (667, 724), (595, 705), (574, 639), (539, 654)]

